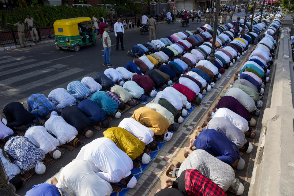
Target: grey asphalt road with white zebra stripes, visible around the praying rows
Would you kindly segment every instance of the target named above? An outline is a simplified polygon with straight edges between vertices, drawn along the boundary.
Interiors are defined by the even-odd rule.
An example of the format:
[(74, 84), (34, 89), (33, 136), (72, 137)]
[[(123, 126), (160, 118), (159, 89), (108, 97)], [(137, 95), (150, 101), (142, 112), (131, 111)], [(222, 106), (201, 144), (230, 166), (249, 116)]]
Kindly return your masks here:
[[(237, 16), (244, 16), (244, 12), (236, 13), (233, 20)], [(203, 17), (202, 17), (203, 19)], [(161, 24), (157, 26), (157, 39), (171, 35), (174, 32), (182, 30), (195, 30), (202, 23), (190, 24), (182, 27), (179, 22), (174, 24)], [(149, 32), (141, 35), (138, 28), (126, 30), (124, 34), (125, 51), (115, 51), (115, 36), (110, 33), (111, 37), (111, 63), (115, 67), (125, 66), (126, 62), (132, 60), (131, 56), (126, 56), (126, 52), (138, 43), (145, 43), (149, 41)], [(101, 43), (96, 46), (81, 47), (79, 52), (74, 51), (59, 51), (55, 49), (53, 43), (46, 45), (39, 45), (36, 47), (18, 49), (15, 51), (0, 53), (0, 110), (6, 104), (18, 101), (25, 103), (28, 96), (33, 93), (43, 93), (48, 95), (53, 89), (67, 87), (67, 84), (74, 80), (79, 80), (85, 76), (94, 77), (97, 72), (104, 72), (107, 67), (103, 66), (103, 49)], [(128, 112), (122, 115), (121, 119), (130, 117), (134, 109), (141, 107), (142, 104), (137, 105)], [(111, 126), (117, 126), (119, 119), (111, 122)], [(94, 138), (103, 136), (103, 131), (95, 131), (91, 139), (85, 139), (89, 143)], [(79, 148), (80, 149), (80, 148)], [(79, 151), (78, 149), (78, 151)], [(25, 195), (33, 185), (43, 183), (50, 178), (59, 169), (69, 163), (77, 155), (77, 151), (69, 153), (68, 151), (62, 155), (53, 164), (47, 167), (47, 171), (43, 175), (36, 175), (28, 181), (17, 194)]]

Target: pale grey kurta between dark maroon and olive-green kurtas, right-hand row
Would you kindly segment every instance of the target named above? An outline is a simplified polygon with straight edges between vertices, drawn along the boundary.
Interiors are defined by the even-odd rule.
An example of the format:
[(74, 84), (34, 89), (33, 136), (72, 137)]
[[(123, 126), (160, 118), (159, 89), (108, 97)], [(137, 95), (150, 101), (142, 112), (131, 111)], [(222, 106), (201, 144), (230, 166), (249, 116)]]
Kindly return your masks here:
[(242, 91), (238, 88), (228, 89), (224, 96), (232, 96), (236, 98), (249, 112), (252, 112), (257, 109), (255, 106), (254, 100), (246, 94), (246, 92)]

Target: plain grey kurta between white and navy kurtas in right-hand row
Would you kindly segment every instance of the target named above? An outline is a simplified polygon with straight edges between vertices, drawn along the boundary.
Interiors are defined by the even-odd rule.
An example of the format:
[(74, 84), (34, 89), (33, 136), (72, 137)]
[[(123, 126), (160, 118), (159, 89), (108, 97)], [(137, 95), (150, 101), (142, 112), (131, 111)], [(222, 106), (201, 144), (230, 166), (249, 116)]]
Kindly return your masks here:
[(234, 142), (238, 148), (242, 148), (247, 142), (243, 131), (234, 126), (230, 121), (220, 117), (212, 118), (206, 126), (206, 129), (217, 130), (229, 140)]

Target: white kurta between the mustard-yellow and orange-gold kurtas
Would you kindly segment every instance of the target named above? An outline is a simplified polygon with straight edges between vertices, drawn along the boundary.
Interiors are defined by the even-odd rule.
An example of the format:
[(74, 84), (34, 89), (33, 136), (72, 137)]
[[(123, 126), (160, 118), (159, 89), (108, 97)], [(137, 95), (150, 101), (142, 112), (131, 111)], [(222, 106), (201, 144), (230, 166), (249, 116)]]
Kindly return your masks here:
[(129, 131), (130, 134), (134, 135), (139, 140), (143, 141), (145, 145), (153, 141), (154, 132), (153, 130), (142, 125), (133, 118), (125, 118), (120, 123), (119, 126)]

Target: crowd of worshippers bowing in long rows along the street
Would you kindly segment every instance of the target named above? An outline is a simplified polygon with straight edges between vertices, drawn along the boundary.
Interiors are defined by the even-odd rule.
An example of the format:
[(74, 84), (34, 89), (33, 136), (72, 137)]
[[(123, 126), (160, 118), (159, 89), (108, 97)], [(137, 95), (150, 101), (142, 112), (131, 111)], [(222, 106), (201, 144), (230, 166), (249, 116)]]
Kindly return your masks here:
[[(275, 19), (273, 23), (270, 26), (281, 25), (281, 20)], [(266, 28), (268, 21), (265, 19), (260, 24), (258, 26), (261, 29), (254, 27), (252, 31), (257, 36)], [(257, 37), (252, 34), (245, 39), (233, 39), (234, 30), (230, 25), (219, 26), (221, 32), (218, 34), (219, 45), (213, 65), (204, 60), (210, 54), (212, 46), (212, 35), (207, 34), (211, 27), (205, 25), (202, 28), (206, 31), (194, 32), (195, 35), (183, 31), (160, 39), (161, 41), (152, 40), (147, 45), (138, 44), (129, 54), (149, 55), (135, 58), (133, 62), (126, 63), (125, 67), (106, 69), (104, 73), (96, 74), (95, 78), (84, 77), (81, 81), (72, 81), (67, 89), (54, 89), (48, 96), (32, 94), (27, 99), (26, 109), (18, 102), (7, 104), (3, 109), (5, 118), (1, 116), (0, 126), (6, 158), (10, 160), (1, 155), (2, 162), (6, 163), (4, 167), (9, 182), (17, 189), (20, 188), (22, 180), (32, 177), (28, 170), (34, 168), (41, 175), (46, 171), (45, 164), (51, 164), (52, 158), (58, 159), (62, 155), (59, 147), (75, 151), (85, 143), (80, 139), (93, 136), (89, 127), (96, 130), (108, 128), (112, 118), (120, 118), (126, 107), (154, 97), (152, 103), (136, 109), (132, 117), (123, 119), (118, 127), (104, 131), (104, 138), (95, 139), (82, 147), (76, 159), (62, 169), (58, 180), (54, 178), (51, 184), (36, 185), (27, 195), (38, 195), (38, 191), (44, 190), (60, 195), (59, 191), (65, 189), (75, 195), (110, 195), (112, 190), (122, 190), (117, 184), (119, 182), (124, 187), (133, 188), (137, 180), (131, 174), (131, 169), (150, 162), (148, 153), (157, 150), (158, 142), (171, 139), (191, 105), (201, 104), (203, 95), (211, 90), (225, 69), (246, 53)], [(143, 47), (148, 51), (138, 54), (137, 49)], [(207, 182), (210, 182), (207, 178), (217, 179), (211, 179), (209, 186), (216, 183), (221, 188), (216, 186), (220, 192), (243, 192), (243, 185), (238, 179), (234, 179), (234, 172), (230, 173), (233, 171), (231, 166), (243, 169), (245, 162), (240, 157), (239, 150), (248, 153), (252, 150), (252, 145), (245, 137), (255, 136), (255, 130), (249, 127), (256, 124), (251, 115), (259, 115), (257, 107), (262, 105), (260, 99), (264, 84), (268, 81), (274, 48), (275, 40), (269, 35), (263, 37), (249, 56), (249, 61), (242, 67), (238, 78), (236, 76), (234, 84), (223, 92), (218, 106), (209, 113), (202, 127), (197, 128), (196, 140), (185, 149), (185, 156), (196, 154), (195, 152), (204, 153), (202, 151), (205, 150), (207, 155), (199, 155), (202, 159), (205, 157), (205, 160), (192, 160), (202, 163), (211, 159), (212, 168), (190, 168), (198, 171), (187, 170), (187, 175), (200, 175)], [(149, 50), (154, 53), (151, 54)], [(172, 81), (175, 82), (173, 85)], [(220, 121), (217, 118), (223, 119)], [(220, 123), (223, 128), (220, 128)], [(18, 129), (21, 126), (26, 127), (25, 133)], [(205, 126), (210, 128), (203, 130)], [(220, 143), (221, 148), (218, 148)], [(193, 145), (202, 151), (192, 152)], [(52, 158), (46, 158), (47, 153)], [(218, 159), (220, 162), (217, 162)], [(230, 164), (231, 170), (224, 164)], [(175, 166), (180, 168), (179, 164)], [(180, 176), (176, 167), (169, 166), (168, 171)], [(77, 172), (73, 173), (75, 168), (77, 169), (74, 171)], [(210, 174), (213, 177), (208, 175), (212, 171), (205, 173), (205, 169), (218, 171)], [(19, 173), (22, 179), (16, 177)], [(219, 173), (224, 176), (218, 176)], [(170, 185), (170, 181), (167, 184)], [(180, 188), (180, 184), (177, 185)]]

